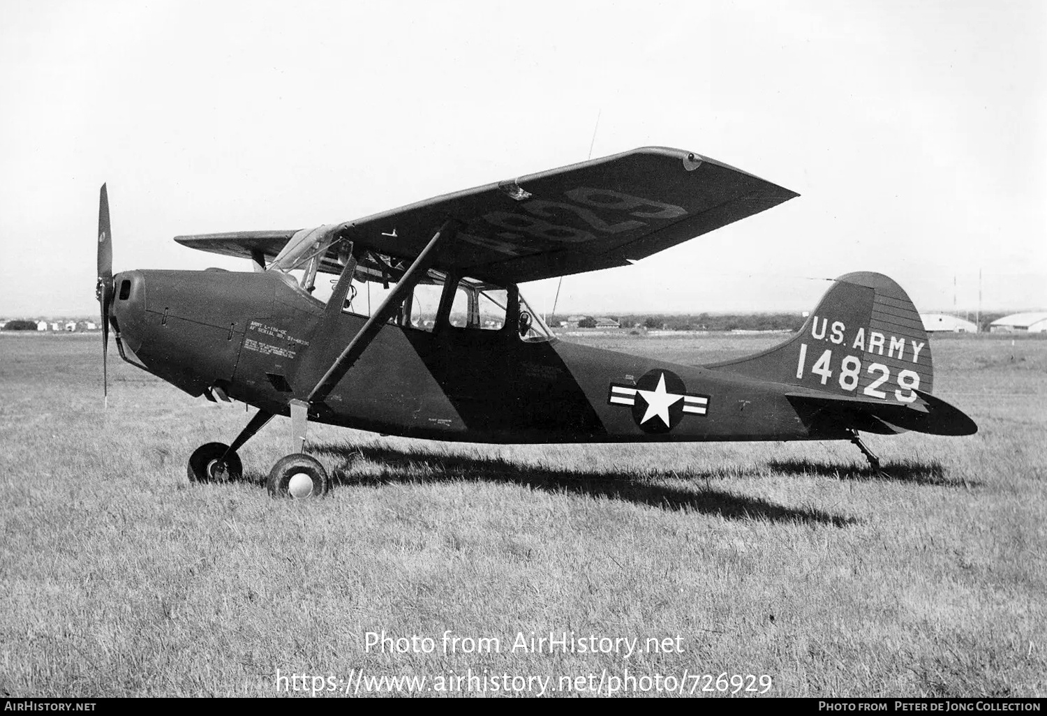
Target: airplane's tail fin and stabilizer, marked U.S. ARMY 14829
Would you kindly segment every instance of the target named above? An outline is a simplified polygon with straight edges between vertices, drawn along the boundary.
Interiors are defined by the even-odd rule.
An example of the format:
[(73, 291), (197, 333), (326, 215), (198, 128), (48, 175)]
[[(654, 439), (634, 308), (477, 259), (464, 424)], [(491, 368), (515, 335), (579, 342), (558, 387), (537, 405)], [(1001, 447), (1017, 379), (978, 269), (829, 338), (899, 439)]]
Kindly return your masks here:
[(708, 367), (795, 385), (787, 394), (794, 403), (833, 412), (855, 429), (977, 430), (970, 418), (930, 395), (934, 363), (923, 323), (901, 287), (881, 273), (840, 276), (787, 341)]

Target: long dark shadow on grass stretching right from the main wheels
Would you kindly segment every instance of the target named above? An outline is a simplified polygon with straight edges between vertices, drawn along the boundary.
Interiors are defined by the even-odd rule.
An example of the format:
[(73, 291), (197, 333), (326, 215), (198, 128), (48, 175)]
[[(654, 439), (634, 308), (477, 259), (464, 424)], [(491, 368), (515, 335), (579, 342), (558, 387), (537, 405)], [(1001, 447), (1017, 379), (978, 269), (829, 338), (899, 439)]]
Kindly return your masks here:
[[(726, 519), (765, 519), (838, 528), (860, 521), (814, 508), (790, 508), (760, 497), (709, 487), (709, 479), (725, 476), (721, 470), (663, 471), (643, 475), (617, 470), (586, 473), (520, 465), (500, 457), (431, 454), (374, 446), (317, 446), (314, 452), (336, 458), (337, 465), (332, 469), (331, 476), (335, 484), (346, 487), (442, 480), (503, 483), (526, 485), (552, 494), (605, 497), (673, 512), (717, 515)], [(354, 465), (363, 461), (380, 464), (382, 472), (366, 474), (355, 470)], [(682, 490), (667, 484), (669, 479), (680, 478), (692, 482), (697, 490)], [(265, 475), (250, 473), (245, 474), (244, 479), (263, 483)]]

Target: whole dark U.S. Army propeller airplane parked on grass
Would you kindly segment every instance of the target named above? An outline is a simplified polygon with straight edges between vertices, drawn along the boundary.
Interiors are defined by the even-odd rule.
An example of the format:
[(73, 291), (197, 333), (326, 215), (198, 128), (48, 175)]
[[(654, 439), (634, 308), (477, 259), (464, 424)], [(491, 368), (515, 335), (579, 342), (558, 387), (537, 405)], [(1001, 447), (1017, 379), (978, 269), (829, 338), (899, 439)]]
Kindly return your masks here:
[(648, 147), (340, 224), (175, 238), (252, 271), (113, 274), (103, 184), (104, 393), (112, 328), (127, 362), (257, 408), (230, 443), (193, 452), (195, 483), (240, 478), (239, 450), (290, 417), (288, 454), (266, 480), (290, 498), (331, 488), (307, 452), (310, 423), (495, 444), (848, 440), (876, 470), (860, 431), (976, 432), (932, 395), (919, 314), (879, 273), (837, 278), (781, 344), (706, 365), (560, 340), (517, 288), (628, 266), (797, 196)]

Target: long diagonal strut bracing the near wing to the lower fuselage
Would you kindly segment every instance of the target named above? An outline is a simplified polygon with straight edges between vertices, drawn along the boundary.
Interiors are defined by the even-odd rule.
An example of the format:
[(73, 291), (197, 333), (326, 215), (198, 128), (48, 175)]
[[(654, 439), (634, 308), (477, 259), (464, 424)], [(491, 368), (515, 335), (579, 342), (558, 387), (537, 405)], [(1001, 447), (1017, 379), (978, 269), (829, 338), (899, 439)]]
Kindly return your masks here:
[[(438, 230), (432, 236), (432, 239), (429, 240), (428, 245), (426, 245), (422, 252), (418, 254), (418, 258), (415, 259), (415, 263), (410, 265), (407, 272), (403, 274), (403, 277), (399, 282), (397, 282), (396, 287), (389, 291), (389, 294), (385, 297), (385, 300), (382, 301), (382, 305), (371, 315), (371, 318), (369, 318), (367, 322), (363, 325), (360, 332), (353, 337), (353, 340), (349, 342), (349, 345), (347, 345), (346, 350), (341, 352), (341, 355), (339, 355), (335, 359), (334, 363), (331, 364), (331, 367), (324, 374), (324, 377), (320, 378), (318, 383), (316, 383), (316, 387), (309, 393), (309, 397), (306, 398), (306, 402), (308, 404), (312, 405), (314, 403), (320, 403), (331, 394), (331, 390), (333, 390), (334, 386), (338, 384), (338, 381), (344, 377), (349, 368), (353, 367), (353, 364), (359, 360), (363, 352), (369, 345), (371, 345), (371, 341), (378, 335), (378, 332), (381, 330), (382, 326), (385, 325), (385, 321), (396, 314), (396, 311), (400, 307), (400, 304), (403, 303), (404, 297), (415, 290), (415, 286), (419, 281), (425, 277), (426, 272), (436, 260), (437, 248), (444, 243), (452, 241), (456, 233), (456, 222), (453, 220), (447, 220), (444, 222), (444, 225), (440, 227), (440, 230)], [(351, 279), (352, 275), (347, 276), (346, 273), (342, 272), (342, 276), (338, 281), (338, 287), (335, 289), (336, 295), (332, 296), (332, 299), (336, 298), (339, 294), (338, 289), (341, 288), (341, 284)], [(340, 295), (344, 297), (344, 291), (342, 291)]]

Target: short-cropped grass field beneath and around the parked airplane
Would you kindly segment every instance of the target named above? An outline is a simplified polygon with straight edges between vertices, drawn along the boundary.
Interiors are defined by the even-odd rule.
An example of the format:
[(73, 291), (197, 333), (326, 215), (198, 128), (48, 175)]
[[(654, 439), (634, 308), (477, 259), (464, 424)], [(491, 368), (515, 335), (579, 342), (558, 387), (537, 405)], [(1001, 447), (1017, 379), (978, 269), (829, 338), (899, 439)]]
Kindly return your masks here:
[[(711, 362), (776, 340), (586, 342)], [(890, 478), (844, 443), (506, 447), (321, 426), (310, 438), (340, 484), (304, 504), (258, 485), (286, 419), (241, 451), (244, 482), (191, 486), (188, 454), (236, 435), (243, 406), (117, 359), (104, 411), (97, 342), (0, 337), (0, 695), (316, 686), (277, 689), (277, 669), (339, 692), (361, 673), (452, 694), (483, 674), (488, 695), (494, 675), (550, 677), (545, 693), (584, 695), (561, 677), (606, 693), (626, 672), (686, 672), (695, 695), (725, 692), (690, 675), (721, 673), (766, 674), (772, 695), (1047, 693), (1047, 340), (935, 338), (935, 393), (980, 429), (869, 437)], [(383, 630), (435, 649), (369, 650)], [(500, 648), (451, 651), (447, 631)], [(673, 648), (511, 649), (532, 631)]]

